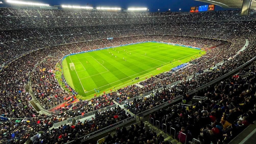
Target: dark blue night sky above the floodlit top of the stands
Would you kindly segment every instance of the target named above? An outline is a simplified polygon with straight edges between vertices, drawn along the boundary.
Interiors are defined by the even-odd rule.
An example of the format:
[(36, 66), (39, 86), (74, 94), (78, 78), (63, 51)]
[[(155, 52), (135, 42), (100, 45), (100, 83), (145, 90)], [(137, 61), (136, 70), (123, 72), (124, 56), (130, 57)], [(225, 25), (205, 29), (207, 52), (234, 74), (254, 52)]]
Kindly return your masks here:
[[(206, 5), (208, 3), (199, 2), (195, 0), (17, 0), (27, 2), (40, 2), (49, 5), (77, 5), (92, 7), (120, 7), (127, 9), (129, 7), (147, 7), (150, 12), (165, 12), (169, 8), (171, 11), (189, 12), (191, 6)], [(220, 6), (215, 7), (216, 10), (223, 10)]]

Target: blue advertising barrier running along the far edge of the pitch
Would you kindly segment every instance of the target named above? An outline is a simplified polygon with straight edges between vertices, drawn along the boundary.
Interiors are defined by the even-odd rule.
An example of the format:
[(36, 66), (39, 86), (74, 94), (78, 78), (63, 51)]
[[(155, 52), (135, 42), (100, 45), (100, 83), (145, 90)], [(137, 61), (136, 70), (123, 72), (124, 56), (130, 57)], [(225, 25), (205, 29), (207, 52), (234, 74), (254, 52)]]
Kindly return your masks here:
[(197, 48), (197, 47), (191, 47), (191, 46), (186, 46), (186, 45), (180, 45), (180, 44), (177, 44), (177, 43), (167, 43), (167, 42), (159, 42), (159, 41), (144, 41), (144, 42), (129, 43), (129, 44), (125, 44), (125, 45), (119, 45), (119, 46), (106, 47), (106, 48), (100, 48), (100, 49), (95, 49), (95, 50), (88, 50), (88, 51), (82, 51), (82, 52), (77, 52), (77, 53), (71, 53), (71, 54), (67, 54), (66, 56), (64, 56), (61, 61), (63, 61), (63, 59), (65, 59), (67, 56), (72, 56), (72, 55), (74, 55), (74, 54), (85, 53), (85, 52), (91, 52), (91, 51), (97, 51), (97, 50), (103, 50), (103, 49), (108, 49), (108, 48), (121, 47), (121, 46), (134, 45), (134, 44), (145, 43), (145, 42), (165, 43), (165, 44), (170, 44), (170, 45), (175, 45), (175, 46), (182, 46), (182, 47), (187, 47), (187, 48), (193, 48), (193, 49), (199, 49), (199, 50), (200, 50), (200, 48)]

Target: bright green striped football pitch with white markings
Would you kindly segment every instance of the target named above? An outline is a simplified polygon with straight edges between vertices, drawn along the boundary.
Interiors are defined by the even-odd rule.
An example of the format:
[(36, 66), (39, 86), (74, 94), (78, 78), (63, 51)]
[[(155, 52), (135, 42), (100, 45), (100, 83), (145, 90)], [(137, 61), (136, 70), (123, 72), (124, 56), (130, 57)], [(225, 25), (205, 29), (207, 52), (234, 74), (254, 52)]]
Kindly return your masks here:
[[(169, 71), (204, 53), (193, 48), (145, 42), (67, 56), (62, 61), (62, 70), (67, 83), (82, 99), (88, 99), (109, 92), (113, 86), (116, 90)], [(100, 93), (95, 93), (94, 88)]]

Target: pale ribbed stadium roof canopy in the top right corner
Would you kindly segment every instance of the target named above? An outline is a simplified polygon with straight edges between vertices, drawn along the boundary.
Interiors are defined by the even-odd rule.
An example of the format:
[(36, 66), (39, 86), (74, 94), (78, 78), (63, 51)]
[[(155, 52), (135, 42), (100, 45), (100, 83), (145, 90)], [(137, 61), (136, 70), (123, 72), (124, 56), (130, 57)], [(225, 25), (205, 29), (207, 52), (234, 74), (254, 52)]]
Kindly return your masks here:
[[(243, 0), (196, 0), (221, 6), (222, 8), (242, 8)], [(252, 0), (251, 8), (256, 8), (256, 0)]]

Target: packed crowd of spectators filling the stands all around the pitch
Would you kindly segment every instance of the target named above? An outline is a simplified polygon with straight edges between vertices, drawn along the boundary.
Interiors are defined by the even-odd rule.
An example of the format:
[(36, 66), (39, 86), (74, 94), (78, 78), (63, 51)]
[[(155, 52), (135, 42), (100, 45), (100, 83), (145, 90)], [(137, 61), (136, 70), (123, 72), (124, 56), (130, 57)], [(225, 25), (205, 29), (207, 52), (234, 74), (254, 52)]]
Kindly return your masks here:
[[(82, 10), (0, 8), (2, 29), (0, 31), (0, 47), (2, 50), (0, 58), (1, 64), (5, 63), (0, 72), (1, 116), (8, 118), (24, 118), (22, 120), (11, 119), (7, 121), (2, 119), (4, 122), (0, 124), (2, 130), (0, 134), (2, 140), (0, 142), (65, 143), (70, 140), (75, 140), (75, 142), (80, 143), (80, 139), (78, 139), (79, 137), (117, 123), (125, 118), (129, 118), (131, 115), (126, 113), (124, 109), (121, 109), (121, 107), (117, 106), (99, 114), (95, 114), (95, 119), (92, 119), (91, 121), (85, 120), (82, 123), (79, 120), (78, 122), (73, 120), (71, 125), (65, 124), (59, 128), (51, 127), (54, 123), (112, 105), (112, 98), (116, 98), (121, 102), (178, 80), (182, 80), (182, 82), (176, 84), (174, 87), (164, 89), (163, 91), (157, 92), (157, 94), (148, 98), (136, 99), (133, 103), (129, 103), (127, 105), (134, 107), (136, 109), (136, 113), (139, 113), (153, 108), (163, 102), (171, 101), (178, 95), (184, 95), (184, 98), (187, 98), (185, 94), (186, 92), (227, 74), (255, 56), (255, 21), (245, 21), (255, 19), (255, 11), (252, 10), (250, 15), (247, 17), (236, 15), (237, 13), (239, 13), (239, 10), (181, 15), (181, 13), (177, 12), (119, 13), (90, 12)], [(112, 17), (107, 18), (109, 15)], [(164, 16), (164, 18), (162, 16)], [(131, 21), (131, 23), (126, 24), (125, 21), (127, 20)], [(225, 20), (231, 21), (227, 22)], [(170, 24), (170, 21), (172, 21), (172, 24)], [(108, 37), (114, 37), (114, 39), (104, 39)], [(207, 37), (215, 38), (215, 40), (208, 39)], [(245, 39), (249, 39), (250, 44), (245, 50), (240, 51), (245, 43)], [(138, 85), (130, 85), (123, 88), (117, 88), (116, 93), (119, 93), (120, 95), (116, 93), (102, 94), (90, 99), (90, 105), (87, 100), (79, 100), (76, 103), (73, 103), (70, 108), (56, 109), (55, 111), (64, 112), (53, 115), (52, 117), (39, 114), (33, 106), (30, 105), (29, 101), (31, 100), (31, 96), (29, 92), (25, 91), (25, 84), (28, 83), (30, 75), (32, 76), (33, 92), (45, 108), (48, 105), (52, 105), (53, 103), (60, 101), (65, 96), (67, 97), (70, 93), (72, 93), (72, 95), (76, 95), (76, 92), (74, 92), (72, 88), (70, 88), (69, 94), (64, 92), (61, 89), (61, 86), (63, 85), (58, 84), (54, 75), (47, 72), (48, 70), (55, 69), (56, 63), (58, 63), (63, 56), (80, 51), (144, 41), (179, 43), (199, 48), (207, 48), (220, 43), (225, 44), (208, 50), (203, 57), (193, 58), (189, 66), (178, 70), (173, 75), (159, 74), (152, 76), (151, 78), (139, 83), (142, 87), (139, 87)], [(45, 48), (37, 50), (38, 48), (43, 47)], [(31, 50), (35, 51), (31, 52)], [(26, 52), (26, 55), (6, 65), (15, 57)], [(236, 57), (233, 57), (237, 52), (239, 54)], [(44, 62), (37, 65), (38, 62), (41, 62), (44, 59)], [(201, 73), (202, 70), (208, 69), (221, 61), (224, 61), (223, 65), (218, 65), (214, 69)], [(44, 68), (45, 71), (42, 71)], [(230, 84), (231, 87), (229, 89), (224, 91), (218, 88), (216, 88), (216, 90), (214, 88), (204, 90), (205, 96), (208, 97), (207, 101), (198, 103), (195, 108), (189, 109), (189, 112), (184, 110), (184, 107), (182, 106), (177, 106), (177, 108), (174, 107), (174, 111), (167, 110), (168, 116), (166, 116), (166, 119), (168, 127), (176, 125), (174, 119), (178, 118), (177, 123), (179, 124), (179, 127), (177, 127), (177, 130), (182, 129), (185, 130), (185, 132), (188, 132), (188, 129), (191, 129), (191, 126), (189, 125), (198, 124), (198, 121), (188, 118), (187, 115), (194, 118), (206, 117), (205, 124), (210, 124), (211, 126), (200, 125), (197, 127), (197, 130), (193, 129), (194, 131), (190, 131), (191, 135), (196, 137), (199, 134), (198, 128), (204, 127), (202, 135), (198, 136), (200, 140), (217, 141), (218, 139), (216, 138), (220, 138), (224, 143), (230, 141), (238, 134), (238, 128), (242, 127), (243, 129), (245, 126), (248, 126), (252, 120), (255, 120), (255, 117), (252, 115), (255, 113), (255, 109), (253, 110), (253, 105), (255, 104), (255, 92), (253, 90), (255, 83), (255, 63), (250, 67), (250, 69), (244, 69), (243, 71), (251, 72), (246, 80), (241, 79), (240, 77), (230, 78), (223, 82)], [(172, 71), (167, 73), (172, 73)], [(187, 76), (197, 73), (201, 74), (196, 75), (192, 80), (184, 79)], [(61, 79), (63, 84), (69, 87), (63, 76)], [(243, 87), (243, 84), (247, 82), (251, 83), (251, 86), (248, 89)], [(232, 86), (234, 84), (240, 84), (238, 90), (236, 88), (233, 88), (232, 90)], [(215, 94), (215, 96), (213, 94)], [(236, 103), (237, 99), (242, 101), (243, 98), (245, 98), (244, 105), (240, 106)], [(213, 121), (211, 119), (212, 121), (210, 121), (208, 117), (212, 118), (212, 115), (217, 115), (216, 109), (212, 109), (216, 104), (223, 105), (224, 108), (221, 109), (220, 112), (225, 112), (225, 115), (221, 118), (220, 116), (218, 116), (218, 118), (216, 116), (216, 120)], [(225, 106), (225, 104), (227, 105)], [(217, 108), (217, 106), (215, 108)], [(200, 111), (199, 109), (203, 109), (205, 111)], [(250, 110), (249, 113), (248, 110)], [(239, 115), (233, 114), (237, 111), (240, 112), (242, 116), (245, 116), (242, 117), (242, 119), (239, 119), (239, 121), (236, 119)], [(173, 112), (176, 117), (172, 117)], [(181, 118), (177, 117), (177, 113), (180, 114)], [(160, 111), (159, 114), (157, 113), (154, 117), (162, 117), (162, 119), (164, 119), (161, 114), (163, 114), (163, 112)], [(165, 121), (161, 124), (164, 122)], [(212, 125), (210, 122), (215, 125)], [(231, 129), (227, 127), (224, 128), (224, 126), (229, 125), (229, 123)], [(244, 126), (241, 126), (241, 124)], [(219, 129), (219, 133), (221, 131), (223, 134), (227, 134), (226, 139), (223, 139), (222, 135), (217, 133), (216, 135), (214, 134), (215, 137), (213, 137), (212, 132), (209, 131), (210, 129), (212, 130), (217, 127), (217, 125), (220, 126), (220, 129), (221, 127), (223, 129)], [(140, 138), (142, 138), (143, 141), (163, 141), (161, 136), (155, 136), (154, 132), (150, 131), (147, 126), (145, 128), (146, 130), (143, 129), (145, 126), (146, 124), (141, 123), (141, 126), (132, 130), (132, 132), (134, 132), (135, 135), (139, 135), (141, 132), (143, 135), (141, 135)], [(144, 138), (144, 131), (139, 131), (139, 129), (146, 131), (146, 138)], [(216, 128), (215, 130), (217, 131)], [(122, 138), (123, 141), (127, 140), (128, 142), (128, 137), (130, 138), (134, 136), (134, 134), (132, 133), (130, 135), (130, 131), (127, 131), (126, 133), (120, 133), (120, 131), (118, 131), (115, 138)], [(133, 140), (130, 139), (129, 144), (140, 143), (140, 140), (139, 138)], [(110, 140), (110, 137), (109, 141), (115, 142)]]

